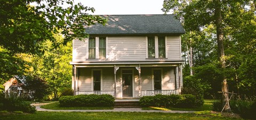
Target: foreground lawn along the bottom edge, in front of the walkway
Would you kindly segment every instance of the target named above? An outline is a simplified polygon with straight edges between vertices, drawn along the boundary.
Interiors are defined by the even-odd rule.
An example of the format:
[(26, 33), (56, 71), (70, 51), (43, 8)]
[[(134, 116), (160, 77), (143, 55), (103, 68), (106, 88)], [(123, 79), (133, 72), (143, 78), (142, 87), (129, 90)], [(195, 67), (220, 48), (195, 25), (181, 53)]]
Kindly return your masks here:
[(140, 112), (36, 112), (0, 114), (0, 119), (237, 119), (211, 114), (140, 113)]

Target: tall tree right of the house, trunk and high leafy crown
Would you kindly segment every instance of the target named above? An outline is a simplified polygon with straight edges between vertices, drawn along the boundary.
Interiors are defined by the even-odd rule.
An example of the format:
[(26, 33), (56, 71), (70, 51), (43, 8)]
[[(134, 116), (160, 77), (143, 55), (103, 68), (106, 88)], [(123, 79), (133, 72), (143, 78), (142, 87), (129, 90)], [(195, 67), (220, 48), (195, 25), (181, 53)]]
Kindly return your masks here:
[[(233, 14), (234, 11), (246, 11), (246, 6), (249, 6), (249, 11), (255, 11), (255, 1), (193, 1), (193, 0), (165, 0), (163, 4), (164, 12), (169, 12), (173, 10), (174, 14), (178, 15), (184, 21), (185, 29), (189, 31), (202, 31), (207, 25), (214, 25), (215, 32), (217, 35), (217, 45), (218, 45), (218, 58), (221, 63), (221, 68), (226, 71), (226, 62), (228, 56), (225, 56), (224, 52), (224, 40), (225, 37), (232, 38), (227, 33), (227, 28), (232, 27), (230, 25), (230, 18), (238, 20), (236, 17), (240, 14)], [(230, 16), (231, 15), (231, 16)], [(247, 16), (247, 17), (250, 17)], [(238, 24), (238, 23), (236, 23)], [(225, 28), (224, 28), (225, 27)], [(239, 31), (240, 32), (240, 31)], [(251, 40), (251, 39), (250, 39)], [(225, 104), (228, 99), (227, 91), (227, 78), (223, 75), (222, 78), (222, 91), (223, 105), (225, 105), (225, 111), (230, 112), (229, 104)]]

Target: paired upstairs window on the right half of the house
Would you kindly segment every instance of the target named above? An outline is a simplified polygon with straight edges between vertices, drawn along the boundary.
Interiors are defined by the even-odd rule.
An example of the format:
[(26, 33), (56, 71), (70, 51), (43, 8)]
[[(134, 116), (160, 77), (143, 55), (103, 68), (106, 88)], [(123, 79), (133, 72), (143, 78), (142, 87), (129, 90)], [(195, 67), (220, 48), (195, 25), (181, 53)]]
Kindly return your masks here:
[(149, 36), (147, 44), (147, 58), (166, 58), (165, 36)]

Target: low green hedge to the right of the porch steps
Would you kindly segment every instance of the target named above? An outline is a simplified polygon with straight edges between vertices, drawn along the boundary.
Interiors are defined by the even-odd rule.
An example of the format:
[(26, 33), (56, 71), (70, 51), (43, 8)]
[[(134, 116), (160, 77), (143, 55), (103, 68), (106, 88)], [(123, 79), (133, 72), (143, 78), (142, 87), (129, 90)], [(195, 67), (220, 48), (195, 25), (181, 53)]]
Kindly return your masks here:
[(141, 107), (177, 107), (177, 108), (191, 108), (202, 106), (198, 104), (197, 97), (194, 95), (155, 95), (144, 96), (140, 98)]

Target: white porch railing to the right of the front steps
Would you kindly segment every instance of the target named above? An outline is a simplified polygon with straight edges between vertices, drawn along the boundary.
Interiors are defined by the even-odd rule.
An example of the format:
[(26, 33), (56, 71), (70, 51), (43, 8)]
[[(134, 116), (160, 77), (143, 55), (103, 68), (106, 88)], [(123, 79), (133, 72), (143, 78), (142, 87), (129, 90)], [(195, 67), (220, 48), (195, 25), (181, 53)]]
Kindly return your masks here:
[(162, 95), (179, 95), (180, 90), (141, 90), (141, 97), (143, 96), (155, 96), (157, 94)]

